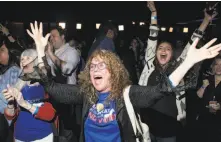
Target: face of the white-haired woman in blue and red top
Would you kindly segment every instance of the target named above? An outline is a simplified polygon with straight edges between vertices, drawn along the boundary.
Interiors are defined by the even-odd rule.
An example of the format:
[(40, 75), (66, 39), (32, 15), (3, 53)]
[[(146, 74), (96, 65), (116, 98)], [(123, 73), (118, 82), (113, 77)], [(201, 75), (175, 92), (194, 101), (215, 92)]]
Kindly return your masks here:
[(29, 56), (21, 56), (20, 67), (24, 73), (32, 73), (34, 71), (34, 58)]

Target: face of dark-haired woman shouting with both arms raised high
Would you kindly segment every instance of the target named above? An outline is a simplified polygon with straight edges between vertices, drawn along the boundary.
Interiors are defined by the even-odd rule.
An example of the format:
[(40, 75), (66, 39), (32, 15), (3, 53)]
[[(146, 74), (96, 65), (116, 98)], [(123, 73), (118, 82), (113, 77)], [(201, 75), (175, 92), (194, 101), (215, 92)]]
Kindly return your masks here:
[(160, 65), (166, 65), (172, 57), (172, 47), (168, 43), (161, 43), (157, 49), (157, 60)]

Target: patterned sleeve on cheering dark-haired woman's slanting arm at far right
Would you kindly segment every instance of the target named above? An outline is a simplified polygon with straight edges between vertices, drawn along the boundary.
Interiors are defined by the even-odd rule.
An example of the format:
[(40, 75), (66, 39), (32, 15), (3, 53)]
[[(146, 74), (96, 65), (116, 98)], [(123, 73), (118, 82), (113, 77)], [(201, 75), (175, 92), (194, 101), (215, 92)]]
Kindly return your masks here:
[(190, 41), (187, 43), (187, 45), (185, 46), (185, 48), (183, 49), (183, 52), (181, 53), (181, 55), (177, 58), (177, 61), (180, 60), (184, 60), (186, 58), (187, 55), (187, 51), (189, 50), (189, 47), (191, 46), (191, 44), (193, 43), (193, 41), (196, 38), (201, 39), (203, 37), (203, 33), (199, 32), (198, 30), (195, 30), (195, 32), (193, 33), (193, 35), (190, 38)]

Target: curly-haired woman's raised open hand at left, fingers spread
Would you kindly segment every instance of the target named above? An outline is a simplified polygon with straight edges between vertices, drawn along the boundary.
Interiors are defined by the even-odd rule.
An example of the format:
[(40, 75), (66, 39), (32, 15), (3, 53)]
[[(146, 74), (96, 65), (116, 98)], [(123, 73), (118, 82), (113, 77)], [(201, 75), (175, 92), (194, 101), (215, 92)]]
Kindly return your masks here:
[(48, 38), (50, 37), (50, 34), (48, 33), (45, 37), (43, 37), (42, 22), (40, 22), (39, 27), (36, 21), (34, 25), (33, 23), (30, 23), (30, 27), (31, 32), (27, 29), (27, 33), (35, 41), (38, 54), (44, 55), (45, 46), (48, 43)]

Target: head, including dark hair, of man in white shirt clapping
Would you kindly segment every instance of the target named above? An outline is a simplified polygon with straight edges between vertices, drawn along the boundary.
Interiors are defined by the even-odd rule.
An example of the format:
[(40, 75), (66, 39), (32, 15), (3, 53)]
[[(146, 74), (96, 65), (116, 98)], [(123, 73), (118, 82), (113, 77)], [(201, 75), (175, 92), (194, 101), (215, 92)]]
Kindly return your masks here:
[(65, 44), (65, 30), (58, 26), (52, 28), (50, 42), (55, 49), (59, 49)]

